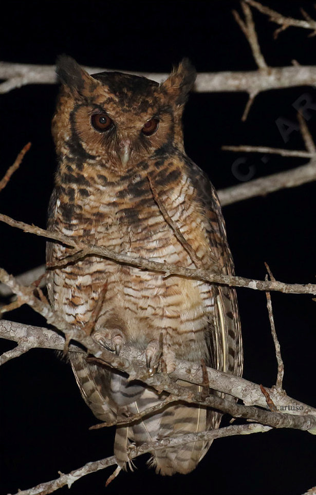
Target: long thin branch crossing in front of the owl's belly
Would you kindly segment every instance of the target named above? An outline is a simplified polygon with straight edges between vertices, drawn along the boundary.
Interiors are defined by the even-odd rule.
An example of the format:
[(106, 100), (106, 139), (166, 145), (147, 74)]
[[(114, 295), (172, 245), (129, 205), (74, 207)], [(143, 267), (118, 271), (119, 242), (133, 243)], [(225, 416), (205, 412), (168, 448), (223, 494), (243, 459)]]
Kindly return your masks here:
[[(297, 169), (296, 169), (297, 170)], [(261, 179), (258, 179), (261, 180)], [(209, 273), (207, 270), (203, 269), (191, 269), (185, 268), (183, 266), (173, 265), (172, 263), (158, 263), (156, 261), (144, 260), (143, 258), (137, 258), (136, 256), (130, 256), (125, 253), (116, 253), (110, 251), (105, 247), (94, 246), (92, 244), (79, 242), (73, 240), (71, 237), (63, 235), (58, 232), (51, 232), (49, 230), (41, 229), (34, 225), (28, 225), (24, 222), (18, 222), (7, 215), (0, 213), (0, 222), (4, 222), (11, 227), (16, 227), (24, 232), (33, 233), (36, 235), (41, 235), (48, 239), (58, 241), (61, 244), (65, 244), (75, 249), (75, 252), (83, 251), (81, 256), (86, 256), (87, 254), (98, 255), (103, 258), (109, 258), (115, 260), (118, 263), (125, 263), (130, 266), (135, 266), (148, 271), (156, 271), (160, 273), (165, 273), (166, 275), (178, 275), (180, 277), (187, 277), (190, 279), (205, 280), (211, 284), (224, 284), (233, 287), (245, 287), (255, 290), (277, 290), (284, 292), (285, 294), (313, 294), (316, 295), (316, 284), (285, 284), (284, 282), (278, 281), (262, 281), (247, 279), (244, 277), (237, 277), (233, 275), (223, 275), (219, 273)], [(0, 269), (4, 273), (4, 270)], [(0, 282), (1, 282), (0, 276)], [(3, 282), (3, 281), (2, 281)], [(7, 282), (4, 282), (7, 283)], [(8, 284), (9, 285), (9, 284)]]

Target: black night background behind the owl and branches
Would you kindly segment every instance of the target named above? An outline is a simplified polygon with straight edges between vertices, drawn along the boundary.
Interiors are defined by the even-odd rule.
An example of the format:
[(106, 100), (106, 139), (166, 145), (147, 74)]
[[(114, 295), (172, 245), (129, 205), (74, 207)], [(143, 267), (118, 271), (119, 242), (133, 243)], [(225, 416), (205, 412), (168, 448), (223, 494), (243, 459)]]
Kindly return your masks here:
[[(266, 2), (299, 17), (300, 6), (315, 14), (312, 2)], [(197, 70), (256, 69), (245, 36), (232, 16), (235, 1), (196, 2), (9, 2), (0, 21), (0, 58), (8, 62), (54, 64), (67, 53), (83, 65), (131, 71), (169, 72), (189, 57)], [(316, 38), (290, 27), (273, 40), (275, 25), (254, 12), (259, 41), (271, 66), (315, 64)], [(32, 148), (21, 169), (0, 195), (1, 212), (41, 227), (53, 187), (55, 156), (50, 120), (55, 85), (15, 89), (0, 99), (0, 172), (26, 142)], [(300, 166), (306, 160), (276, 155), (221, 151), (225, 144), (304, 149), (299, 132), (284, 142), (275, 120), (296, 122), (293, 103), (312, 87), (267, 91), (259, 95), (245, 123), (240, 121), (246, 93), (192, 94), (184, 115), (187, 154), (205, 169), (217, 189), (240, 182), (232, 173), (240, 157), (254, 166), (254, 178)], [(308, 126), (316, 134), (316, 112)], [(263, 279), (264, 261), (277, 280), (314, 282), (315, 184), (283, 190), (224, 208), (236, 273)], [(18, 274), (44, 263), (45, 241), (0, 225), (0, 264)], [(276, 362), (263, 292), (238, 289), (245, 345), (244, 377), (272, 386)], [(274, 292), (275, 324), (285, 362), (288, 395), (316, 406), (314, 391), (315, 303), (308, 295)], [(6, 318), (45, 325), (30, 308)], [(3, 349), (14, 344), (2, 341)], [(1, 383), (1, 493), (15, 493), (69, 472), (86, 462), (112, 455), (114, 429), (88, 431), (96, 418), (81, 399), (70, 367), (52, 351), (33, 350), (6, 363)], [(227, 423), (227, 421), (226, 421)], [(316, 484), (315, 437), (307, 432), (276, 430), (215, 441), (189, 475), (163, 478), (147, 470), (121, 473), (105, 489), (113, 468), (81, 479), (59, 493), (303, 493)]]

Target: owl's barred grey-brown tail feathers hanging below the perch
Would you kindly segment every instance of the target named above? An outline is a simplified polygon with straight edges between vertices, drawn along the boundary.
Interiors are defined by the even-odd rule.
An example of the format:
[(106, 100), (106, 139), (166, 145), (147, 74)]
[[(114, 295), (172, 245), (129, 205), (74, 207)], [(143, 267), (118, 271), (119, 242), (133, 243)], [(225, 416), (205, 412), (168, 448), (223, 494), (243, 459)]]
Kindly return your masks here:
[[(198, 387), (187, 382), (181, 385), (198, 391)], [(141, 395), (132, 403), (120, 409), (120, 416), (131, 416), (155, 406), (164, 397), (158, 396), (150, 389), (143, 389)], [(218, 427), (220, 415), (216, 415), (216, 421), (211, 421), (211, 427)], [(167, 405), (164, 409), (152, 415), (144, 416), (128, 426), (117, 427), (114, 453), (117, 463), (121, 467), (126, 467), (129, 462), (127, 447), (130, 441), (134, 441), (137, 446), (145, 442), (155, 442), (162, 438), (172, 438), (185, 433), (196, 433), (210, 428), (210, 412), (204, 408), (184, 405), (177, 402), (175, 405)], [(214, 418), (213, 418), (214, 419)], [(148, 461), (150, 466), (156, 468), (156, 472), (162, 475), (172, 475), (176, 472), (186, 474), (195, 469), (199, 461), (206, 454), (211, 442), (198, 441), (184, 444), (180, 447), (164, 447), (152, 452), (152, 457)]]

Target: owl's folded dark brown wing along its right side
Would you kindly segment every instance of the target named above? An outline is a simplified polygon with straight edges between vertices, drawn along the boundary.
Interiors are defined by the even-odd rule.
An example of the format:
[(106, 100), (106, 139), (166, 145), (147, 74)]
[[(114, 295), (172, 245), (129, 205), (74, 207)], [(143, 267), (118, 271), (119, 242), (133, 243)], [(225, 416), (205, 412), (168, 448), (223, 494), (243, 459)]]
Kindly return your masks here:
[[(217, 193), (207, 175), (194, 162), (188, 158), (186, 161), (188, 175), (196, 191), (196, 201), (202, 207), (202, 215), (206, 218), (207, 236), (212, 253), (211, 269), (215, 273), (233, 275), (234, 264)], [(240, 376), (243, 351), (236, 291), (224, 285), (213, 285), (210, 288), (214, 297), (214, 315), (206, 333), (210, 349), (209, 365)]]

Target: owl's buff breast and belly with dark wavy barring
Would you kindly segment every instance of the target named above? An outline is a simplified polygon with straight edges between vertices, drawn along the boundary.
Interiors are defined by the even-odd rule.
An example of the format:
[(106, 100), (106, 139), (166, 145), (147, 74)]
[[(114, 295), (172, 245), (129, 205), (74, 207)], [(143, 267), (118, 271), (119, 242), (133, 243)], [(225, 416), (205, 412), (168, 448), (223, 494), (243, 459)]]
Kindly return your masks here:
[[(141, 180), (143, 187), (136, 185), (137, 194), (122, 185), (101, 190), (88, 198), (77, 194), (72, 214), (68, 216), (64, 205), (69, 202), (58, 198), (54, 228), (115, 252), (194, 268), (188, 252), (156, 204), (147, 179), (139, 182)], [(192, 244), (196, 243), (203, 229), (192, 217), (194, 209), (181, 206), (183, 198), (177, 190), (169, 194), (166, 204), (168, 201), (183, 234), (189, 241), (192, 236)], [(209, 249), (206, 241), (202, 247), (203, 252)], [(67, 248), (54, 245), (54, 259), (66, 254)], [(159, 339), (163, 332), (176, 350), (181, 342), (179, 352), (181, 349), (184, 356), (200, 357), (199, 350), (204, 347), (203, 331), (214, 307), (208, 284), (179, 277), (164, 278), (162, 274), (87, 256), (54, 270), (55, 309), (62, 311), (69, 322), (85, 324), (105, 283), (107, 290), (97, 326), (106, 327), (119, 315), (128, 341), (145, 346), (153, 338)]]

